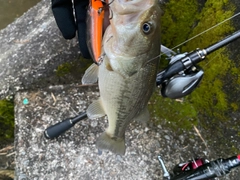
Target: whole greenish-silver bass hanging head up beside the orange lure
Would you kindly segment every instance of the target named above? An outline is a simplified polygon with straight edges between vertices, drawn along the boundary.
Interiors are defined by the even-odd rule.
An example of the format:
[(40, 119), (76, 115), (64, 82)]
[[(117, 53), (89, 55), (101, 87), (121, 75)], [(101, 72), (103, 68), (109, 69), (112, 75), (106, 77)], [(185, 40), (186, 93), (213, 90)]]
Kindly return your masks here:
[(92, 64), (82, 84), (98, 82), (100, 96), (87, 108), (89, 119), (107, 116), (96, 146), (126, 152), (125, 131), (133, 121), (147, 123), (148, 101), (156, 86), (161, 46), (158, 0), (113, 0), (102, 39), (101, 64)]

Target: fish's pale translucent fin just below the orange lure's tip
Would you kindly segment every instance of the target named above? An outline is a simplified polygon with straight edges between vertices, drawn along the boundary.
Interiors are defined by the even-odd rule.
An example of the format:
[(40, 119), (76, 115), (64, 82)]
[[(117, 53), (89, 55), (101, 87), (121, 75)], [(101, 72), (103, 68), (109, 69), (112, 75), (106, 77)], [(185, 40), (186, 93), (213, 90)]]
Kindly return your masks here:
[(93, 63), (84, 73), (82, 84), (94, 84), (98, 81), (98, 65)]

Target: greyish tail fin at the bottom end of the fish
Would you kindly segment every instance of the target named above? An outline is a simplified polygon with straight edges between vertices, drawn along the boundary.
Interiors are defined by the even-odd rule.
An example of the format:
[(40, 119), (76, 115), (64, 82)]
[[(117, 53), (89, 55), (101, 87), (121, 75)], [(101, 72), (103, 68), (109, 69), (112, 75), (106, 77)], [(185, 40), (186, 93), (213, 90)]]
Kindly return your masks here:
[(113, 153), (124, 155), (126, 146), (125, 139), (111, 138), (106, 132), (102, 133), (96, 143), (99, 149), (107, 149)]

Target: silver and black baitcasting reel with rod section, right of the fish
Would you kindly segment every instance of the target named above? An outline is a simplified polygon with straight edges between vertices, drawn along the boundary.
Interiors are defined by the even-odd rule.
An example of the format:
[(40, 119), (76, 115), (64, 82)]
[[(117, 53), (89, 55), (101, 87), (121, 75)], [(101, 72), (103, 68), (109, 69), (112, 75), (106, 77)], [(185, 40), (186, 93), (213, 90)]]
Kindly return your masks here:
[(203, 71), (197, 64), (206, 56), (228, 43), (238, 39), (240, 31), (219, 41), (206, 49), (197, 49), (190, 53), (177, 54), (165, 46), (161, 46), (161, 52), (170, 58), (166, 70), (157, 75), (157, 85), (161, 85), (161, 93), (164, 97), (177, 99), (190, 94), (200, 83)]

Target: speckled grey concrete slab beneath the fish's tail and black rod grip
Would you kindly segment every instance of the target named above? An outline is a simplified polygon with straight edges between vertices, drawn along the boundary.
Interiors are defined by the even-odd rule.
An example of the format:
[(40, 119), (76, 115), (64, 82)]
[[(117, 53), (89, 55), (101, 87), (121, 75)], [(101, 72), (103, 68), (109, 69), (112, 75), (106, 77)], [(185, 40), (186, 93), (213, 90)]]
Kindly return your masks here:
[[(85, 119), (55, 140), (45, 139), (49, 125), (83, 112), (98, 95), (97, 86), (76, 84), (16, 94), (16, 180), (162, 179), (158, 155), (168, 169), (196, 156), (219, 158), (216, 147), (205, 145), (194, 129), (176, 136), (151, 123), (129, 126), (124, 156), (101, 152), (95, 140), (104, 131), (106, 118)], [(205, 132), (199, 133), (204, 138)], [(233, 170), (221, 179), (238, 180), (239, 172)]]

